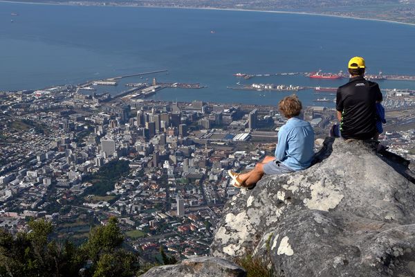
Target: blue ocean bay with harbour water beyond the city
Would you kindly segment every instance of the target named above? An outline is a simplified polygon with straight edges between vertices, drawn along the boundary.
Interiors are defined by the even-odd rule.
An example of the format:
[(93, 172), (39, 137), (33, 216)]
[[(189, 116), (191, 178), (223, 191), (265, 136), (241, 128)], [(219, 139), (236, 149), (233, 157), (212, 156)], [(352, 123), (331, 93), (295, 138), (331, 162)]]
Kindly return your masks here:
[[(15, 13), (17, 15), (12, 15)], [(367, 71), (415, 75), (415, 26), (317, 15), (0, 3), (0, 91), (42, 89), (167, 69), (151, 82), (201, 83), (163, 89), (156, 100), (273, 105), (289, 93), (233, 91), (242, 84), (338, 87), (347, 80), (284, 75), (239, 80), (234, 73), (347, 70), (354, 55)], [(412, 49), (412, 50), (411, 50)], [(143, 82), (139, 77), (123, 82)], [(415, 82), (380, 81), (415, 89)], [(108, 89), (111, 93), (122, 90)], [(312, 90), (300, 91), (313, 105)]]

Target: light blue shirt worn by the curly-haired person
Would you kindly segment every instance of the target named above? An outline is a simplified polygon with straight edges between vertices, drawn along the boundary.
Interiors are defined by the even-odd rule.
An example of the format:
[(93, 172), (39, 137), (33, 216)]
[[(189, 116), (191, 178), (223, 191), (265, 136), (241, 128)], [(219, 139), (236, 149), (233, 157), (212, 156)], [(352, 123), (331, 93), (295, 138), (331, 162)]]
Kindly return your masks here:
[(279, 129), (275, 158), (292, 170), (303, 170), (313, 160), (313, 148), (313, 127), (307, 121), (293, 117)]

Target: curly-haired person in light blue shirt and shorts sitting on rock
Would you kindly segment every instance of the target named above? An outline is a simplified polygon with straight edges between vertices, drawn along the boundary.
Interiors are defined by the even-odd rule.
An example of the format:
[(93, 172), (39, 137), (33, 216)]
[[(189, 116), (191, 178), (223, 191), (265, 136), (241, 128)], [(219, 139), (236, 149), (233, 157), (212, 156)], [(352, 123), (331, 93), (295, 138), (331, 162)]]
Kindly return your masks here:
[(278, 103), (279, 111), (288, 118), (278, 132), (275, 157), (267, 156), (250, 172), (239, 174), (228, 171), (237, 188), (252, 188), (264, 174), (279, 175), (304, 170), (313, 159), (314, 131), (310, 123), (299, 119), (302, 104), (297, 96), (287, 96)]

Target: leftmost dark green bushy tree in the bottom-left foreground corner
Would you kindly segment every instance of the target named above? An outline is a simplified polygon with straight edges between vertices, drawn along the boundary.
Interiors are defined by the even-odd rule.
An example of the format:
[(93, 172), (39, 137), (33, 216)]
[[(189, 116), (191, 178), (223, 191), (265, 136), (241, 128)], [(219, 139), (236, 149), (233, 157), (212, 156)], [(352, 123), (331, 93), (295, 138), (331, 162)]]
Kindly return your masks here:
[(48, 239), (53, 226), (31, 220), (30, 233), (12, 235), (0, 231), (0, 276), (77, 276), (86, 256), (70, 242)]

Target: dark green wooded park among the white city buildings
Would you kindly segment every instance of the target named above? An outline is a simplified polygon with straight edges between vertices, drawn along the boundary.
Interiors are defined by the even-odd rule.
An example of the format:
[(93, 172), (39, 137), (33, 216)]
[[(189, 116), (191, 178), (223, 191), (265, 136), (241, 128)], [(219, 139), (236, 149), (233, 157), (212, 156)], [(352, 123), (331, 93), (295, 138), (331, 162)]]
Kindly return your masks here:
[(106, 196), (107, 192), (114, 189), (116, 181), (129, 174), (129, 162), (113, 160), (102, 166), (97, 173), (86, 179), (93, 186), (86, 188), (85, 195)]

